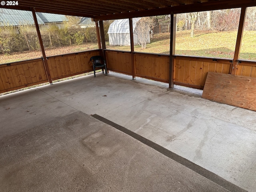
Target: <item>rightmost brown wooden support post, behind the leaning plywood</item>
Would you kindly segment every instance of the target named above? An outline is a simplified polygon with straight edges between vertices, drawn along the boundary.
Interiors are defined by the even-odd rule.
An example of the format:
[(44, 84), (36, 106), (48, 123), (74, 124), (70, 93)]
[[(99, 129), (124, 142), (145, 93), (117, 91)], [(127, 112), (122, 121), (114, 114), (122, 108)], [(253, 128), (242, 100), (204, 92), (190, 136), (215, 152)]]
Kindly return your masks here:
[(246, 18), (246, 7), (241, 8), (241, 14), (240, 14), (240, 20), (239, 20), (239, 26), (238, 26), (238, 32), (237, 32), (237, 38), (236, 38), (236, 48), (234, 53), (234, 59), (232, 62), (232, 68), (231, 68), (231, 74), (236, 74), (236, 65), (238, 64), (238, 58), (240, 54), (240, 48), (242, 43), (242, 36), (244, 32), (244, 22)]

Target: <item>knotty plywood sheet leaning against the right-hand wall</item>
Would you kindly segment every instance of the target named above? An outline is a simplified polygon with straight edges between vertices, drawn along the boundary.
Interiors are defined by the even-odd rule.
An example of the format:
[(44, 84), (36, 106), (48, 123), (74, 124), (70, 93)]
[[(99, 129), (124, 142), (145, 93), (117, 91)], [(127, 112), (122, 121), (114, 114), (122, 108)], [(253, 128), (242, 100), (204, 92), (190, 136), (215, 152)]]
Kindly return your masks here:
[(256, 111), (256, 78), (208, 72), (202, 98)]

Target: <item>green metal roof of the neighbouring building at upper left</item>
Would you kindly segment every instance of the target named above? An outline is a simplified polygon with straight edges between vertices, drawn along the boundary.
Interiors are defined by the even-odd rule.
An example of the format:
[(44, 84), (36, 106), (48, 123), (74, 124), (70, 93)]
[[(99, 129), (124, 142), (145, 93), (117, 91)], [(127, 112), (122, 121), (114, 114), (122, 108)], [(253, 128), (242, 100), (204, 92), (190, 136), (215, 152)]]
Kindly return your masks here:
[[(59, 14), (36, 12), (36, 15), (38, 24), (63, 22), (66, 19), (64, 15)], [(0, 26), (6, 24), (10, 26), (34, 24), (32, 12), (0, 8)]]

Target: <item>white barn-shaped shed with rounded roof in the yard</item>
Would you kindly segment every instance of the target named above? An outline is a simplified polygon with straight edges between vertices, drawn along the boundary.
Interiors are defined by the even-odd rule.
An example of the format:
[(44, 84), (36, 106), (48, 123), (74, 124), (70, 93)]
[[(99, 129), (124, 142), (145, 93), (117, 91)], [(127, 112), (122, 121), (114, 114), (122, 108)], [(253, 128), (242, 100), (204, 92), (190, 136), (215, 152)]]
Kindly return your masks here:
[[(140, 42), (138, 42), (137, 33), (136, 33), (136, 23), (140, 19), (141, 18), (132, 19), (134, 45), (140, 44)], [(108, 38), (109, 38), (109, 45), (130, 46), (129, 19), (114, 20), (114, 22), (110, 24), (108, 28)], [(149, 32), (148, 32), (147, 43), (150, 43)]]

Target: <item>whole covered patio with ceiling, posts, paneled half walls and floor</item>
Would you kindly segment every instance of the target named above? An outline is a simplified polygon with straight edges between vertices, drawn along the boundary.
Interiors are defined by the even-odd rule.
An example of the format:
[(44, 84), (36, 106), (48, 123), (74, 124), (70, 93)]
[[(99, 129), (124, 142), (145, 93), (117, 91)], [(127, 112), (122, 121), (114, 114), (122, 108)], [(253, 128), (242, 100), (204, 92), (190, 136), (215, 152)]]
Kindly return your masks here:
[[(255, 111), (201, 98), (208, 72), (256, 78), (239, 58), (254, 0), (20, 0), (42, 57), (0, 64), (1, 191), (249, 191), (256, 188)], [(176, 14), (240, 8), (234, 57), (175, 55)], [(90, 17), (98, 48), (46, 56), (36, 12)], [(134, 51), (132, 20), (170, 14), (169, 54)], [(108, 50), (104, 20), (129, 19), (130, 51)], [(110, 73), (92, 72), (105, 58)], [(252, 94), (252, 102), (255, 97)]]

